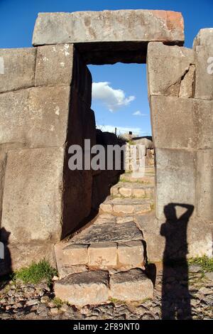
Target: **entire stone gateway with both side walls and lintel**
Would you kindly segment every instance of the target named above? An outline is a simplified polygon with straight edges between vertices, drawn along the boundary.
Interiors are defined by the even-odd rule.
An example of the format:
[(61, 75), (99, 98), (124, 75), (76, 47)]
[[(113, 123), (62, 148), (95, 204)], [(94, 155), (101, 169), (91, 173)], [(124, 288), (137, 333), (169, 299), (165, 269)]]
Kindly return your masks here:
[(116, 62), (147, 64), (155, 147), (150, 258), (162, 259), (160, 225), (170, 203), (195, 208), (189, 256), (212, 257), (213, 29), (202, 29), (192, 49), (183, 44), (180, 13), (85, 11), (38, 14), (33, 48), (0, 50), (0, 226), (10, 269), (44, 256), (55, 264), (54, 244), (82, 226), (118, 180), (119, 171), (70, 171), (67, 163), (70, 145), (97, 143), (87, 64)]

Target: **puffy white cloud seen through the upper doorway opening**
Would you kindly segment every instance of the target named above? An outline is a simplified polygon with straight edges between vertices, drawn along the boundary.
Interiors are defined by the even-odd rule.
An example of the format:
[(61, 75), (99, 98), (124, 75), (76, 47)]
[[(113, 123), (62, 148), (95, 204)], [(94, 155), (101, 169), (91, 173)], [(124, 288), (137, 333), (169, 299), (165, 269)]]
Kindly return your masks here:
[(114, 90), (110, 87), (110, 82), (92, 83), (92, 99), (102, 101), (110, 112), (127, 106), (135, 98), (134, 96), (126, 97), (124, 90)]

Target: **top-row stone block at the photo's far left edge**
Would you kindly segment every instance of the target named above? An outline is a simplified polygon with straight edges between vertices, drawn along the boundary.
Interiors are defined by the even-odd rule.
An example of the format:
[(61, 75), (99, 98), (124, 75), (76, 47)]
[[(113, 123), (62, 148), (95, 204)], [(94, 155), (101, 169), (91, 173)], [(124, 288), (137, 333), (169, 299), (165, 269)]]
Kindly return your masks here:
[(34, 85), (36, 48), (0, 49), (0, 92)]

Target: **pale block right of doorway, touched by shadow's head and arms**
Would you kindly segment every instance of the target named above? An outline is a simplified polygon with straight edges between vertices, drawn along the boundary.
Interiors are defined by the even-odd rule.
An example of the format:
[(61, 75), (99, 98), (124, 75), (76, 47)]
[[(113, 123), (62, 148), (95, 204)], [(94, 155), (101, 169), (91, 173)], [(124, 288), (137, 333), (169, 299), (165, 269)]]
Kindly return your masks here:
[[(179, 203), (195, 206), (194, 151), (156, 149), (156, 216), (165, 218), (165, 206)], [(176, 208), (177, 215), (179, 207)]]

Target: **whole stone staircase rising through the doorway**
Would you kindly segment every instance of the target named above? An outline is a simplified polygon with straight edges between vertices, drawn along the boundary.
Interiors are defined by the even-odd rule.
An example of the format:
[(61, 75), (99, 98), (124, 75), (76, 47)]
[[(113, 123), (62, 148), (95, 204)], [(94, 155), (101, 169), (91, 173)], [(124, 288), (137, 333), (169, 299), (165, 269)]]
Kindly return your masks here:
[[(151, 169), (151, 168), (148, 168)], [(146, 242), (137, 218), (153, 217), (153, 169), (140, 180), (126, 173), (80, 232), (55, 245), (60, 279), (55, 296), (75, 306), (152, 298)]]

